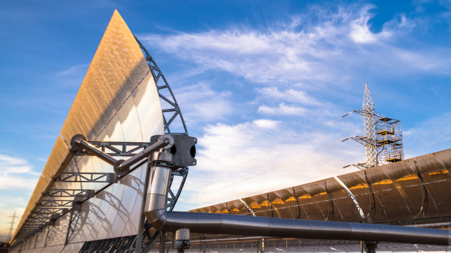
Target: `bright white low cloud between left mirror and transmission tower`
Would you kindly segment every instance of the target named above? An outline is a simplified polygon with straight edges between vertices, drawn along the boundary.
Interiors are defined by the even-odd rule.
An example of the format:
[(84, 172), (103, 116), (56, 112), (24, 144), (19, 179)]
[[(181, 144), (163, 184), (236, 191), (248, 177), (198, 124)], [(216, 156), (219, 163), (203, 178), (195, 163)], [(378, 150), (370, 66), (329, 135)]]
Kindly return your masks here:
[(363, 152), (352, 148), (359, 144), (341, 142), (350, 134), (300, 134), (266, 119), (208, 125), (198, 138), (197, 166), (190, 171), (177, 208), (202, 207), (354, 171), (342, 168), (363, 159)]

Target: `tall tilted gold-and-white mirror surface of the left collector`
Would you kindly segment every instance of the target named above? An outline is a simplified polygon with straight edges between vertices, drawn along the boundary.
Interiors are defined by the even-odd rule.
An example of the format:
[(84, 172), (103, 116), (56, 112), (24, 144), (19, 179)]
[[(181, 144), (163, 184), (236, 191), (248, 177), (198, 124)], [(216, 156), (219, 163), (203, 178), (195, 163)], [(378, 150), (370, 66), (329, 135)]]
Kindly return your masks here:
[[(49, 186), (75, 134), (83, 134), (89, 141), (149, 142), (151, 136), (163, 132), (163, 114), (154, 78), (135, 37), (115, 11), (13, 238), (20, 235), (17, 232)], [(79, 247), (84, 241), (137, 233), (145, 177), (143, 167), (83, 203), (65, 250)], [(113, 173), (113, 167), (97, 157), (83, 156), (74, 157), (65, 172)], [(104, 186), (93, 182), (55, 182), (52, 189), (99, 190)], [(55, 225), (44, 227), (26, 239), (22, 248), (32, 252), (62, 248), (68, 224), (69, 213)], [(49, 236), (44, 236), (47, 232)]]

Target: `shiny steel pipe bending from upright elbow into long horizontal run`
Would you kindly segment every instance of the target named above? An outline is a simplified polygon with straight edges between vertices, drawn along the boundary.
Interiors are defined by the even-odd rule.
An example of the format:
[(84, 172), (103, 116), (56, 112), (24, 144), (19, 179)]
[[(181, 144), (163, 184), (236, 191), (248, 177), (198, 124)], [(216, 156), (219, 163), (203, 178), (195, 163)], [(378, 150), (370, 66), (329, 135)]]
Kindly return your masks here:
[(147, 192), (147, 220), (158, 230), (176, 231), (187, 228), (192, 233), (234, 234), (315, 238), (350, 241), (387, 241), (448, 245), (450, 234), (446, 230), (420, 227), (402, 227), (366, 223), (343, 223), (321, 220), (295, 220), (238, 216), (220, 213), (167, 212), (167, 191), (170, 169), (154, 166), (151, 187)]

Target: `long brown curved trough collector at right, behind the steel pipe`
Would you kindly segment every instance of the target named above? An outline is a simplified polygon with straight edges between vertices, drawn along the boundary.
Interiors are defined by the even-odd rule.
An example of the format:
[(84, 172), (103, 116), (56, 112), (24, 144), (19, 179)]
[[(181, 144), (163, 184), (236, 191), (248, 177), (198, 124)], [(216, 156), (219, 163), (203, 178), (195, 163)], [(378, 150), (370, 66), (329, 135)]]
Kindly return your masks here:
[[(410, 225), (450, 219), (451, 149), (340, 175), (365, 215), (363, 222)], [(352, 198), (333, 177), (242, 198), (256, 216), (359, 223)], [(193, 212), (252, 215), (240, 200)], [(442, 221), (440, 221), (442, 220)], [(451, 220), (451, 219), (450, 219)]]

